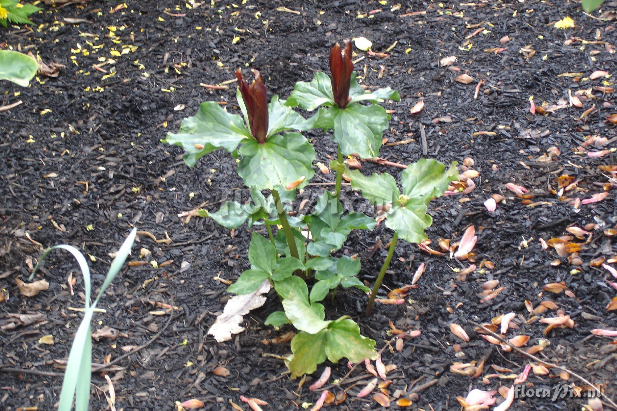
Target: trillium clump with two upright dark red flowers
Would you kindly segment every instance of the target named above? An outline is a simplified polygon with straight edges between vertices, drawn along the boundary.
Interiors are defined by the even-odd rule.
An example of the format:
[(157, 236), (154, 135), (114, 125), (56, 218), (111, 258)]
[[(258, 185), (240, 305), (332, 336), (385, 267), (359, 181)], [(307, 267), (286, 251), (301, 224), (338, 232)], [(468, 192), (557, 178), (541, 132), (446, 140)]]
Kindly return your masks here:
[[(178, 133), (163, 140), (186, 151), (184, 161), (194, 166), (198, 159), (217, 149), (224, 149), (238, 159), (238, 175), (251, 190), (245, 204), (226, 201), (219, 210), (197, 210), (201, 217), (213, 218), (226, 228), (265, 226), (267, 237), (252, 233), (248, 259), (251, 267), (242, 272), (228, 292), (236, 294), (210, 327), (218, 342), (228, 341), (244, 330), (242, 316), (264, 304), (266, 294), (274, 289), (283, 310), (270, 313), (265, 325), (294, 326), (298, 333), (291, 341), (292, 354), (286, 363), (293, 378), (313, 373), (326, 359), (351, 362), (376, 359), (375, 341), (360, 334), (360, 327), (348, 316), (327, 319), (321, 301), (337, 290), (356, 288), (369, 294), (370, 288), (360, 281), (360, 259), (339, 251), (352, 230), (372, 230), (375, 218), (344, 210), (339, 200), (342, 173), (361, 189), (373, 204), (388, 204), (386, 226), (407, 241), (421, 241), (424, 228), (431, 224), (426, 215), (428, 202), (440, 196), (455, 180), (455, 167), (434, 160), (410, 165), (399, 190), (392, 176), (365, 177), (357, 170), (346, 169), (343, 155), (360, 157), (378, 155), (388, 115), (375, 104), (383, 99), (399, 99), (391, 89), (365, 93), (358, 84), (351, 62), (351, 43), (344, 51), (338, 44), (330, 54), (332, 78), (317, 73), (311, 83), (296, 83), (287, 101), (273, 96), (268, 103), (262, 75), (253, 70), (255, 80), (249, 85), (236, 71), (236, 98), (244, 118), (226, 112), (217, 102), (204, 102), (194, 117), (184, 118)], [(304, 118), (292, 107), (319, 110)], [(312, 176), (315, 150), (301, 133), (310, 129), (333, 129), (338, 143), (336, 191), (318, 197), (308, 215), (288, 215), (298, 190), (305, 188)], [(384, 185), (384, 180), (387, 185)], [(387, 192), (387, 193), (386, 193)], [(392, 241), (395, 244), (395, 239)], [(392, 258), (394, 245), (388, 253)], [(387, 264), (384, 265), (387, 268)], [(386, 268), (382, 271), (385, 272)], [(383, 279), (379, 276), (376, 289)], [(368, 310), (370, 312), (370, 310)]]

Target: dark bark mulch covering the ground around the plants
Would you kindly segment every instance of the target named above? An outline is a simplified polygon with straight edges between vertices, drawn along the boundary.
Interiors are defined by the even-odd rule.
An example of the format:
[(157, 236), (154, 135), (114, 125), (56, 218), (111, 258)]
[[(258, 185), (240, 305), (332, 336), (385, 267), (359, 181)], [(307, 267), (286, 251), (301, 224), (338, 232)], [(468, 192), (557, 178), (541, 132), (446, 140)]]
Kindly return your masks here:
[[(1, 83), (6, 93), (2, 93), (0, 106), (23, 100), (20, 106), (0, 112), (0, 289), (10, 295), (0, 302), (2, 409), (53, 409), (62, 380), (55, 360), (67, 358), (81, 319), (81, 314), (69, 307), (83, 307), (81, 275), (72, 257), (59, 251), (38, 273), (37, 279), (49, 281), (49, 290), (36, 297), (20, 295), (15, 279), (25, 280), (41, 254), (26, 234), (43, 247), (73, 244), (90, 254), (96, 259), (91, 263), (96, 288), (109, 266), (109, 252), (117, 250), (133, 226), (157, 239), (165, 239), (167, 233), (172, 242), (155, 244), (151, 238), (139, 236), (130, 260), (140, 260), (139, 249), (146, 247), (160, 268), (125, 268), (99, 304), (106, 313), (94, 318), (95, 330), (111, 326), (126, 334), (115, 341), (94, 342), (94, 362), (102, 362), (107, 355), (113, 360), (123, 354), (122, 347), (139, 346), (160, 332), (150, 346), (121, 360), (109, 373), (118, 396), (117, 409), (168, 410), (175, 401), (193, 397), (204, 401), (206, 409), (231, 410), (231, 401), (247, 409), (239, 400), (244, 395), (270, 402), (265, 409), (295, 410), (317, 400), (318, 394), (308, 391), (309, 384), (299, 388), (298, 381), (281, 375), (286, 370), (282, 360), (264, 355), (290, 352), (289, 344), (266, 346), (261, 342), (288, 331), (263, 326), (268, 313), (279, 308), (274, 297), (245, 317), (247, 330), (232, 341), (217, 344), (207, 336), (228, 299), (226, 285), (218, 278), (234, 280), (247, 267), (250, 232), (243, 228), (232, 234), (199, 218), (183, 225), (176, 215), (204, 202), (205, 208), (217, 209), (224, 199), (246, 198), (247, 192), (228, 154), (215, 152), (189, 168), (178, 147), (159, 140), (167, 131), (177, 130), (181, 118), (193, 115), (199, 102), (225, 101), (228, 110), (237, 111), (233, 84), (228, 90), (212, 91), (201, 83), (215, 85), (231, 80), (236, 67), (254, 67), (262, 71), (270, 94), (286, 97), (294, 81), (308, 81), (313, 72), (328, 70), (328, 51), (334, 41), (354, 36), (371, 39), (376, 52), (396, 42), (389, 58), (362, 54), (364, 58), (356, 64), (365, 85), (392, 86), (402, 96), (399, 103), (386, 103), (386, 108), (395, 112), (384, 136), (389, 143), (412, 141), (384, 146), (381, 155), (402, 164), (420, 157), (443, 162), (471, 157), (480, 172), (470, 194), (443, 197), (431, 204), (431, 247), (439, 249), (439, 238), (455, 243), (466, 227), (474, 225), (478, 231), (476, 264), (486, 259), (495, 266), (492, 270), (484, 267), (484, 272), (476, 270), (460, 281), (453, 268), (468, 267), (468, 262), (458, 263), (448, 255), (429, 255), (416, 246), (400, 244), (385, 286), (408, 284), (421, 262), (427, 267), (408, 302), (378, 304), (374, 314), (365, 318), (365, 297), (339, 292), (336, 301), (326, 307), (329, 318), (352, 315), (363, 334), (375, 339), (379, 348), (390, 338), (388, 320), (402, 330), (421, 330), (401, 352), (386, 348), (383, 353), (385, 363), (397, 366), (391, 373), (395, 377), (388, 388), (391, 394), (407, 389), (408, 395), (413, 384), (437, 380), (418, 392), (415, 408), (455, 410), (459, 409), (456, 397), (465, 397), (470, 387), (511, 385), (511, 380), (500, 376), (491, 376), (485, 384), (482, 378), (471, 380), (450, 372), (453, 362), (481, 360), (489, 346), (468, 321), (491, 322), (507, 312), (517, 314), (515, 322), (520, 327), (508, 336), (529, 335), (528, 345), (548, 339), (550, 345), (538, 354), (542, 359), (569, 368), (592, 383), (605, 384), (605, 393), (615, 401), (616, 346), (607, 345), (611, 339), (589, 333), (593, 328), (617, 325), (615, 311), (606, 309), (616, 295), (605, 282), (607, 271), (589, 265), (595, 257), (608, 259), (617, 254), (615, 241), (603, 234), (603, 228), (616, 223), (615, 196), (610, 191), (603, 201), (574, 209), (550, 191), (557, 188), (555, 179), (560, 175), (571, 175), (578, 181), (575, 189), (564, 193), (569, 199), (586, 199), (603, 191), (595, 183), (608, 180), (597, 166), (615, 164), (613, 153), (594, 158), (576, 152), (590, 135), (610, 141), (597, 150), (615, 146), (615, 125), (604, 121), (615, 112), (615, 94), (592, 91), (592, 99), (581, 98), (581, 109), (568, 106), (548, 116), (529, 112), (530, 96), (537, 105), (544, 101), (568, 105), (568, 89), (575, 93), (613, 81), (559, 77), (563, 73), (588, 77), (594, 70), (617, 74), (613, 23), (584, 15), (579, 4), (571, 1), (404, 2), (394, 11), (395, 4), (383, 3), (238, 0), (213, 1), (212, 7), (204, 2), (189, 9), (184, 2), (176, 6), (173, 2), (129, 1), (128, 9), (112, 13), (118, 3), (92, 1), (84, 6), (47, 9), (33, 16), (40, 26), (32, 30), (0, 29), (0, 46), (38, 52), (45, 62), (66, 65), (59, 77), (39, 76), (27, 89)], [(280, 6), (299, 13), (276, 10)], [(367, 14), (375, 9), (381, 11)], [(566, 15), (573, 17), (576, 28), (557, 30), (550, 25)], [(87, 21), (75, 24), (65, 18)], [(486, 31), (473, 34), (482, 27)], [(499, 39), (505, 35), (510, 36), (503, 46), (507, 49), (485, 51), (502, 47)], [(535, 51), (533, 56), (531, 50)], [(115, 51), (120, 56), (114, 56), (118, 54)], [(447, 56), (457, 56), (454, 65), (476, 81), (470, 85), (455, 82), (462, 72), (439, 65)], [(479, 80), (484, 83), (474, 99)], [(424, 110), (411, 115), (410, 108), (419, 99), (424, 101)], [(592, 104), (595, 110), (581, 120)], [(51, 112), (42, 114), (47, 109)], [(446, 116), (451, 122), (432, 122)], [(421, 127), (426, 131), (424, 154)], [(492, 133), (474, 135), (479, 131)], [(309, 136), (318, 160), (327, 164), (327, 156), (335, 152), (329, 136)], [(538, 159), (552, 146), (559, 148), (560, 156), (548, 162)], [(372, 171), (400, 173), (398, 168), (365, 163), (364, 172)], [(313, 181), (332, 180), (332, 174), (318, 173)], [(525, 186), (534, 194), (532, 202), (545, 203), (528, 207), (505, 188), (506, 183)], [(318, 194), (323, 187), (309, 186), (307, 191)], [(495, 212), (487, 212), (482, 203), (494, 193), (507, 199)], [(344, 197), (350, 202), (355, 194), (347, 187)], [(559, 257), (552, 248), (542, 250), (538, 239), (568, 235), (566, 227), (588, 223), (602, 227), (582, 245), (581, 267), (569, 265), (567, 258), (561, 259), (559, 267), (552, 267), (550, 262)], [(89, 225), (93, 230), (86, 229)], [(368, 257), (368, 249), (378, 238), (387, 243), (391, 235), (383, 226), (350, 235), (343, 252), (360, 254), (363, 280), (375, 278), (386, 255), (381, 249)], [(524, 240), (528, 247), (521, 244)], [(182, 262), (190, 267), (181, 270)], [(573, 268), (581, 273), (571, 274)], [(74, 296), (67, 285), (70, 273), (77, 278)], [(499, 279), (504, 289), (483, 303), (479, 293), (487, 278)], [(574, 297), (542, 293), (543, 284), (555, 281), (565, 281)], [(526, 322), (531, 315), (524, 301), (536, 307), (546, 299), (555, 301), (574, 320), (573, 329), (557, 328), (544, 335), (545, 326), (540, 322)], [(178, 310), (169, 325), (168, 314), (151, 314), (160, 310), (155, 302), (172, 301)], [(33, 325), (11, 326), (15, 320), (9, 313), (42, 313), (44, 317)], [(557, 313), (549, 310), (540, 316), (555, 317)], [(450, 333), (452, 322), (462, 325), (471, 336), (470, 343), (461, 344), (464, 355), (453, 349), (462, 341)], [(54, 345), (39, 343), (46, 334), (54, 336)], [(493, 346), (483, 375), (518, 375), (527, 363), (522, 355)], [(231, 375), (213, 375), (219, 365)], [(489, 365), (510, 368), (511, 372), (498, 372)], [(333, 378), (342, 378), (348, 371), (343, 362), (333, 367)], [(7, 372), (7, 368), (26, 371)], [(547, 376), (531, 373), (528, 384), (553, 386), (561, 381), (582, 385), (573, 377), (569, 381), (555, 378), (558, 370), (549, 371)], [(363, 375), (363, 367), (358, 367), (348, 378)], [(366, 379), (358, 384), (362, 381)], [(343, 383), (341, 388), (350, 386)], [(371, 397), (356, 399), (351, 395), (358, 389), (349, 390), (340, 409), (380, 408)], [(91, 409), (106, 409), (106, 390), (106, 380), (101, 373), (94, 373)], [(581, 399), (525, 399), (516, 400), (510, 409), (574, 410), (583, 403)]]

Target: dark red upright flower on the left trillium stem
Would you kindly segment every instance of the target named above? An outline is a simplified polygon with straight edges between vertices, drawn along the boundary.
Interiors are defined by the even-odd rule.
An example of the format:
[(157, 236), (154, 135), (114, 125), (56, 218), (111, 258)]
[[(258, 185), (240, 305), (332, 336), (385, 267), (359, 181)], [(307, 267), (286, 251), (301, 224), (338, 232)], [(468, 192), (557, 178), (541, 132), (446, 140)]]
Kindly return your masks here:
[(268, 135), (268, 96), (266, 86), (263, 85), (262, 74), (257, 70), (252, 70), (255, 80), (249, 86), (242, 77), (242, 70), (236, 70), (238, 78), (238, 88), (246, 106), (246, 113), (249, 118), (246, 120), (251, 127), (251, 134), (260, 144), (266, 142)]

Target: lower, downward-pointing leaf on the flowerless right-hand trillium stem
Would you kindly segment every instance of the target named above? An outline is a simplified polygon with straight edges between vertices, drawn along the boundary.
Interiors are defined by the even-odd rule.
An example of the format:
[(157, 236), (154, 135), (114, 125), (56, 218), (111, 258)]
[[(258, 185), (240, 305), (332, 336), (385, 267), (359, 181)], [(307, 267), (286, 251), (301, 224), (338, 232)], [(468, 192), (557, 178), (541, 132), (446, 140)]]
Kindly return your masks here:
[(426, 214), (424, 204), (407, 204), (405, 207), (395, 203), (387, 214), (386, 227), (399, 233), (409, 243), (418, 244), (426, 239), (424, 230), (431, 226), (433, 218)]

